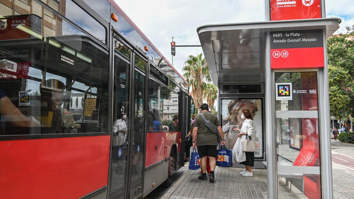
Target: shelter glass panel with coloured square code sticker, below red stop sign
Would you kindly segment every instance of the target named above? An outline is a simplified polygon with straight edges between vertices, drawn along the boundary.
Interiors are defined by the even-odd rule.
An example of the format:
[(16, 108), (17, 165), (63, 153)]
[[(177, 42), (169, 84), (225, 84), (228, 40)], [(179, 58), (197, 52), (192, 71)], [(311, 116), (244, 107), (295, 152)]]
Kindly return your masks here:
[(278, 193), (321, 198), (317, 72), (274, 73)]

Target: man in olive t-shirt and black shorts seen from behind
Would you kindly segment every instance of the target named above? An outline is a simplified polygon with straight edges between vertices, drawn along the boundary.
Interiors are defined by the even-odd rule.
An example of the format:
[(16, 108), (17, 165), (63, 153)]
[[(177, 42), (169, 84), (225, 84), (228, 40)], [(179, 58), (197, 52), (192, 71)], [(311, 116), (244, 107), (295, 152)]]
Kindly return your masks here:
[[(201, 113), (194, 119), (193, 127), (193, 148), (198, 145), (198, 153), (200, 156), (200, 165), (202, 175), (198, 177), (200, 180), (207, 180), (206, 176), (206, 158), (209, 158), (210, 176), (209, 181), (215, 182), (215, 166), (218, 144), (218, 133), (221, 137), (220, 144), (224, 145), (224, 133), (220, 122), (216, 115), (209, 113), (209, 106), (206, 103), (200, 106)], [(198, 140), (198, 144), (197, 144)]]

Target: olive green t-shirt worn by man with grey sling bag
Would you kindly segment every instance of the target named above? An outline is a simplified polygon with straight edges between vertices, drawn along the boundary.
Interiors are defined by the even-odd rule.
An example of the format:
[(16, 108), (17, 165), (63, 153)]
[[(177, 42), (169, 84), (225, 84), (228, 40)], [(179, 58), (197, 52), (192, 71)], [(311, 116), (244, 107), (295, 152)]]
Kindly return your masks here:
[[(211, 121), (216, 126), (220, 126), (220, 122), (216, 115), (209, 113), (209, 112), (202, 112), (206, 120)], [(194, 119), (194, 127), (198, 127), (198, 134), (197, 134), (197, 145), (217, 145), (217, 136), (216, 133), (212, 133), (208, 127), (205, 126), (205, 121), (201, 115), (197, 115)]]

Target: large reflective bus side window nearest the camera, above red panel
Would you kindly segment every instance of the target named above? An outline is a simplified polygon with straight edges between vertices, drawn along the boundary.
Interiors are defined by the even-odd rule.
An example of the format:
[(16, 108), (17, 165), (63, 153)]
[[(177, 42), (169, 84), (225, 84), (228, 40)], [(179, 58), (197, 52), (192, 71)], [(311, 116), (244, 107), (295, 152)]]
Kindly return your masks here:
[(108, 53), (45, 11), (0, 18), (0, 135), (106, 132)]

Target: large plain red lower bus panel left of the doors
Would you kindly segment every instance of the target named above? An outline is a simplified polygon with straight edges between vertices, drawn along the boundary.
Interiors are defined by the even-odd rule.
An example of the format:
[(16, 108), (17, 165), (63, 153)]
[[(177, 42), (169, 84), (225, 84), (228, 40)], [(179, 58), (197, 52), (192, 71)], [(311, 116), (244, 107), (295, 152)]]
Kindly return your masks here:
[(107, 185), (110, 136), (0, 141), (0, 198), (79, 198)]

